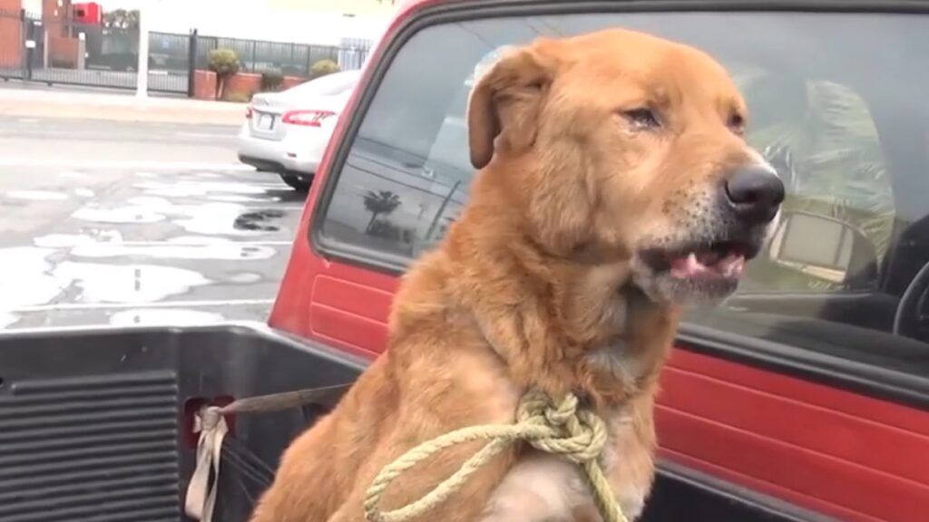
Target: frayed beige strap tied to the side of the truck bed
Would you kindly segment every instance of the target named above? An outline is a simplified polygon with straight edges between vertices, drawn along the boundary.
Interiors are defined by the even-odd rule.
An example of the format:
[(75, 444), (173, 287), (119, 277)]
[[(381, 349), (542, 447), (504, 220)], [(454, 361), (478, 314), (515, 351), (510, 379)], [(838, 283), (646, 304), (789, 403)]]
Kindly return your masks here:
[(341, 396), (348, 386), (350, 385), (334, 385), (240, 398), (223, 407), (204, 406), (194, 420), (193, 430), (194, 433), (200, 434), (200, 439), (197, 442), (197, 466), (190, 476), (187, 496), (184, 499), (184, 512), (194, 520), (213, 521), (223, 439), (229, 433), (229, 425), (226, 424), (224, 415), (281, 411), (307, 404), (325, 403)]

